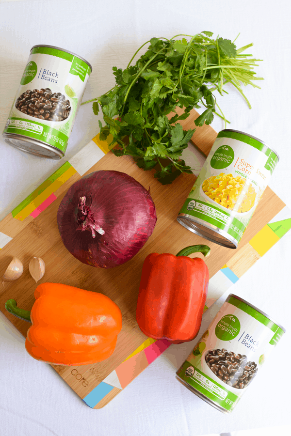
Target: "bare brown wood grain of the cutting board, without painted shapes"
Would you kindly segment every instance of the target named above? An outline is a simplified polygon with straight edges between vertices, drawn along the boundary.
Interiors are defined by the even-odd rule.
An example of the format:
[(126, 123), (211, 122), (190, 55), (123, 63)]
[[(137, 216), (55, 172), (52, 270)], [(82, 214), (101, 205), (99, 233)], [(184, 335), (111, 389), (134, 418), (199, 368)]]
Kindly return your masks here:
[[(194, 119), (197, 116), (197, 112), (192, 111), (190, 117), (181, 122), (183, 128), (194, 128)], [(216, 136), (217, 133), (210, 126), (204, 125), (196, 129), (192, 140), (203, 153), (208, 155)], [(241, 277), (259, 258), (258, 253), (252, 249), (248, 241), (285, 206), (267, 187), (242, 237), (239, 248), (228, 249), (205, 241), (202, 237), (181, 226), (176, 219), (196, 179), (193, 174), (181, 175), (171, 185), (162, 186), (153, 177), (154, 171), (143, 171), (137, 167), (131, 157), (116, 157), (111, 152), (87, 173), (113, 169), (131, 175), (146, 189), (150, 187), (158, 217), (154, 232), (145, 246), (124, 265), (111, 269), (94, 268), (82, 264), (65, 249), (58, 232), (56, 214), (67, 189), (80, 179), (78, 173), (74, 174), (58, 189), (55, 193), (57, 199), (38, 217), (33, 219), (29, 216), (24, 221), (18, 221), (12, 217), (12, 214), (9, 214), (0, 222), (0, 232), (13, 237), (13, 240), (0, 250), (0, 276), (3, 275), (12, 256), (18, 257), (24, 265), (23, 275), (18, 280), (5, 284), (5, 288), (0, 294), (0, 310), (24, 336), (30, 324), (8, 313), (4, 305), (8, 298), (15, 298), (19, 307), (31, 310), (36, 284), (30, 276), (28, 264), (33, 256), (41, 257), (46, 264), (46, 273), (38, 284), (47, 281), (60, 282), (101, 292), (109, 296), (122, 312), (122, 330), (118, 336), (115, 351), (110, 358), (93, 365), (79, 367), (52, 365), (54, 370), (81, 398), (92, 391), (146, 340), (146, 336), (136, 323), (135, 310), (142, 265), (147, 254), (151, 252), (176, 254), (188, 245), (206, 243), (211, 248), (211, 254), (206, 259), (210, 277), (225, 264), (231, 265), (233, 272)], [(82, 380), (78, 380), (72, 375), (73, 368), (76, 368), (82, 375), (82, 380), (86, 380), (88, 383), (83, 383)], [(120, 389), (114, 388), (98, 407), (105, 405), (119, 391)]]

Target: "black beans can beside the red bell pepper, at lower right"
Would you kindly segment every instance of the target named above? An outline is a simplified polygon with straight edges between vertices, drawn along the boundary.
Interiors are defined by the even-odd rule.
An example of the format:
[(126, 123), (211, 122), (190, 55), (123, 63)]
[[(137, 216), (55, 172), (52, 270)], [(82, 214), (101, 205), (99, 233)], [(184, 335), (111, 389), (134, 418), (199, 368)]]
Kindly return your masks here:
[(230, 294), (177, 379), (216, 409), (231, 413), (285, 331), (269, 315)]

